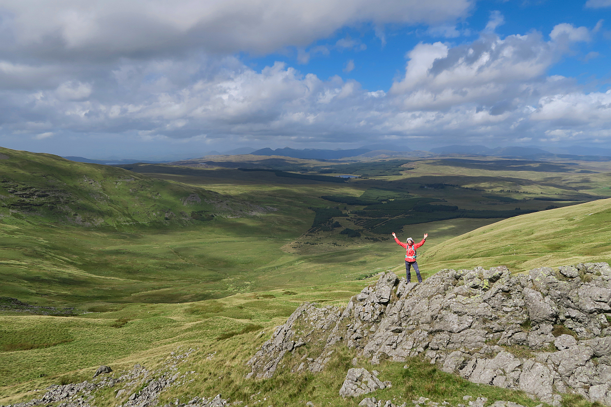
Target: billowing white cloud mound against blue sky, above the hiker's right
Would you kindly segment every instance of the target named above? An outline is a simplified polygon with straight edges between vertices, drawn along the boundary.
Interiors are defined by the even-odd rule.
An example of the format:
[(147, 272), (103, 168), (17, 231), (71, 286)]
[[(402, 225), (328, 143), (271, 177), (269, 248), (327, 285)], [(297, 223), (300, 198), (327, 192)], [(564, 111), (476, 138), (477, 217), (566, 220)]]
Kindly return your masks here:
[(493, 115), (528, 98), (554, 60), (540, 34), (485, 35), (469, 45), (448, 48), (419, 44), (408, 54), (405, 76), (390, 93), (403, 109), (449, 109), (464, 103), (487, 107)]

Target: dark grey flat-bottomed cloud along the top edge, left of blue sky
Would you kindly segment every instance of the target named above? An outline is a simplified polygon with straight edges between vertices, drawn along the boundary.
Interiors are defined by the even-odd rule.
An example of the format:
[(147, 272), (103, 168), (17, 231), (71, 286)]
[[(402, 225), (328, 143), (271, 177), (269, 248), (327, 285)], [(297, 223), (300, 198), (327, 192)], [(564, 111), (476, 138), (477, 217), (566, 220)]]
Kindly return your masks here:
[(267, 53), (307, 46), (360, 23), (439, 24), (471, 0), (0, 0), (2, 48), (47, 59), (105, 60), (204, 49)]

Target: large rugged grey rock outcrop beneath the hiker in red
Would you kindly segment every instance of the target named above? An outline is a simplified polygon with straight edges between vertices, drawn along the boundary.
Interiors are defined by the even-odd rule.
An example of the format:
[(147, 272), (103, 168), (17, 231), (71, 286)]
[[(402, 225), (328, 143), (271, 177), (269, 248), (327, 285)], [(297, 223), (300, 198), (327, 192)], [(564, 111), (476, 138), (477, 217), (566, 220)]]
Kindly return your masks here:
[(249, 376), (271, 377), (279, 364), (318, 372), (342, 343), (373, 363), (423, 355), (445, 372), (554, 405), (563, 392), (611, 405), (610, 326), (606, 263), (522, 275), (442, 270), (422, 284), (389, 272), (345, 309), (302, 304), (249, 361)]

